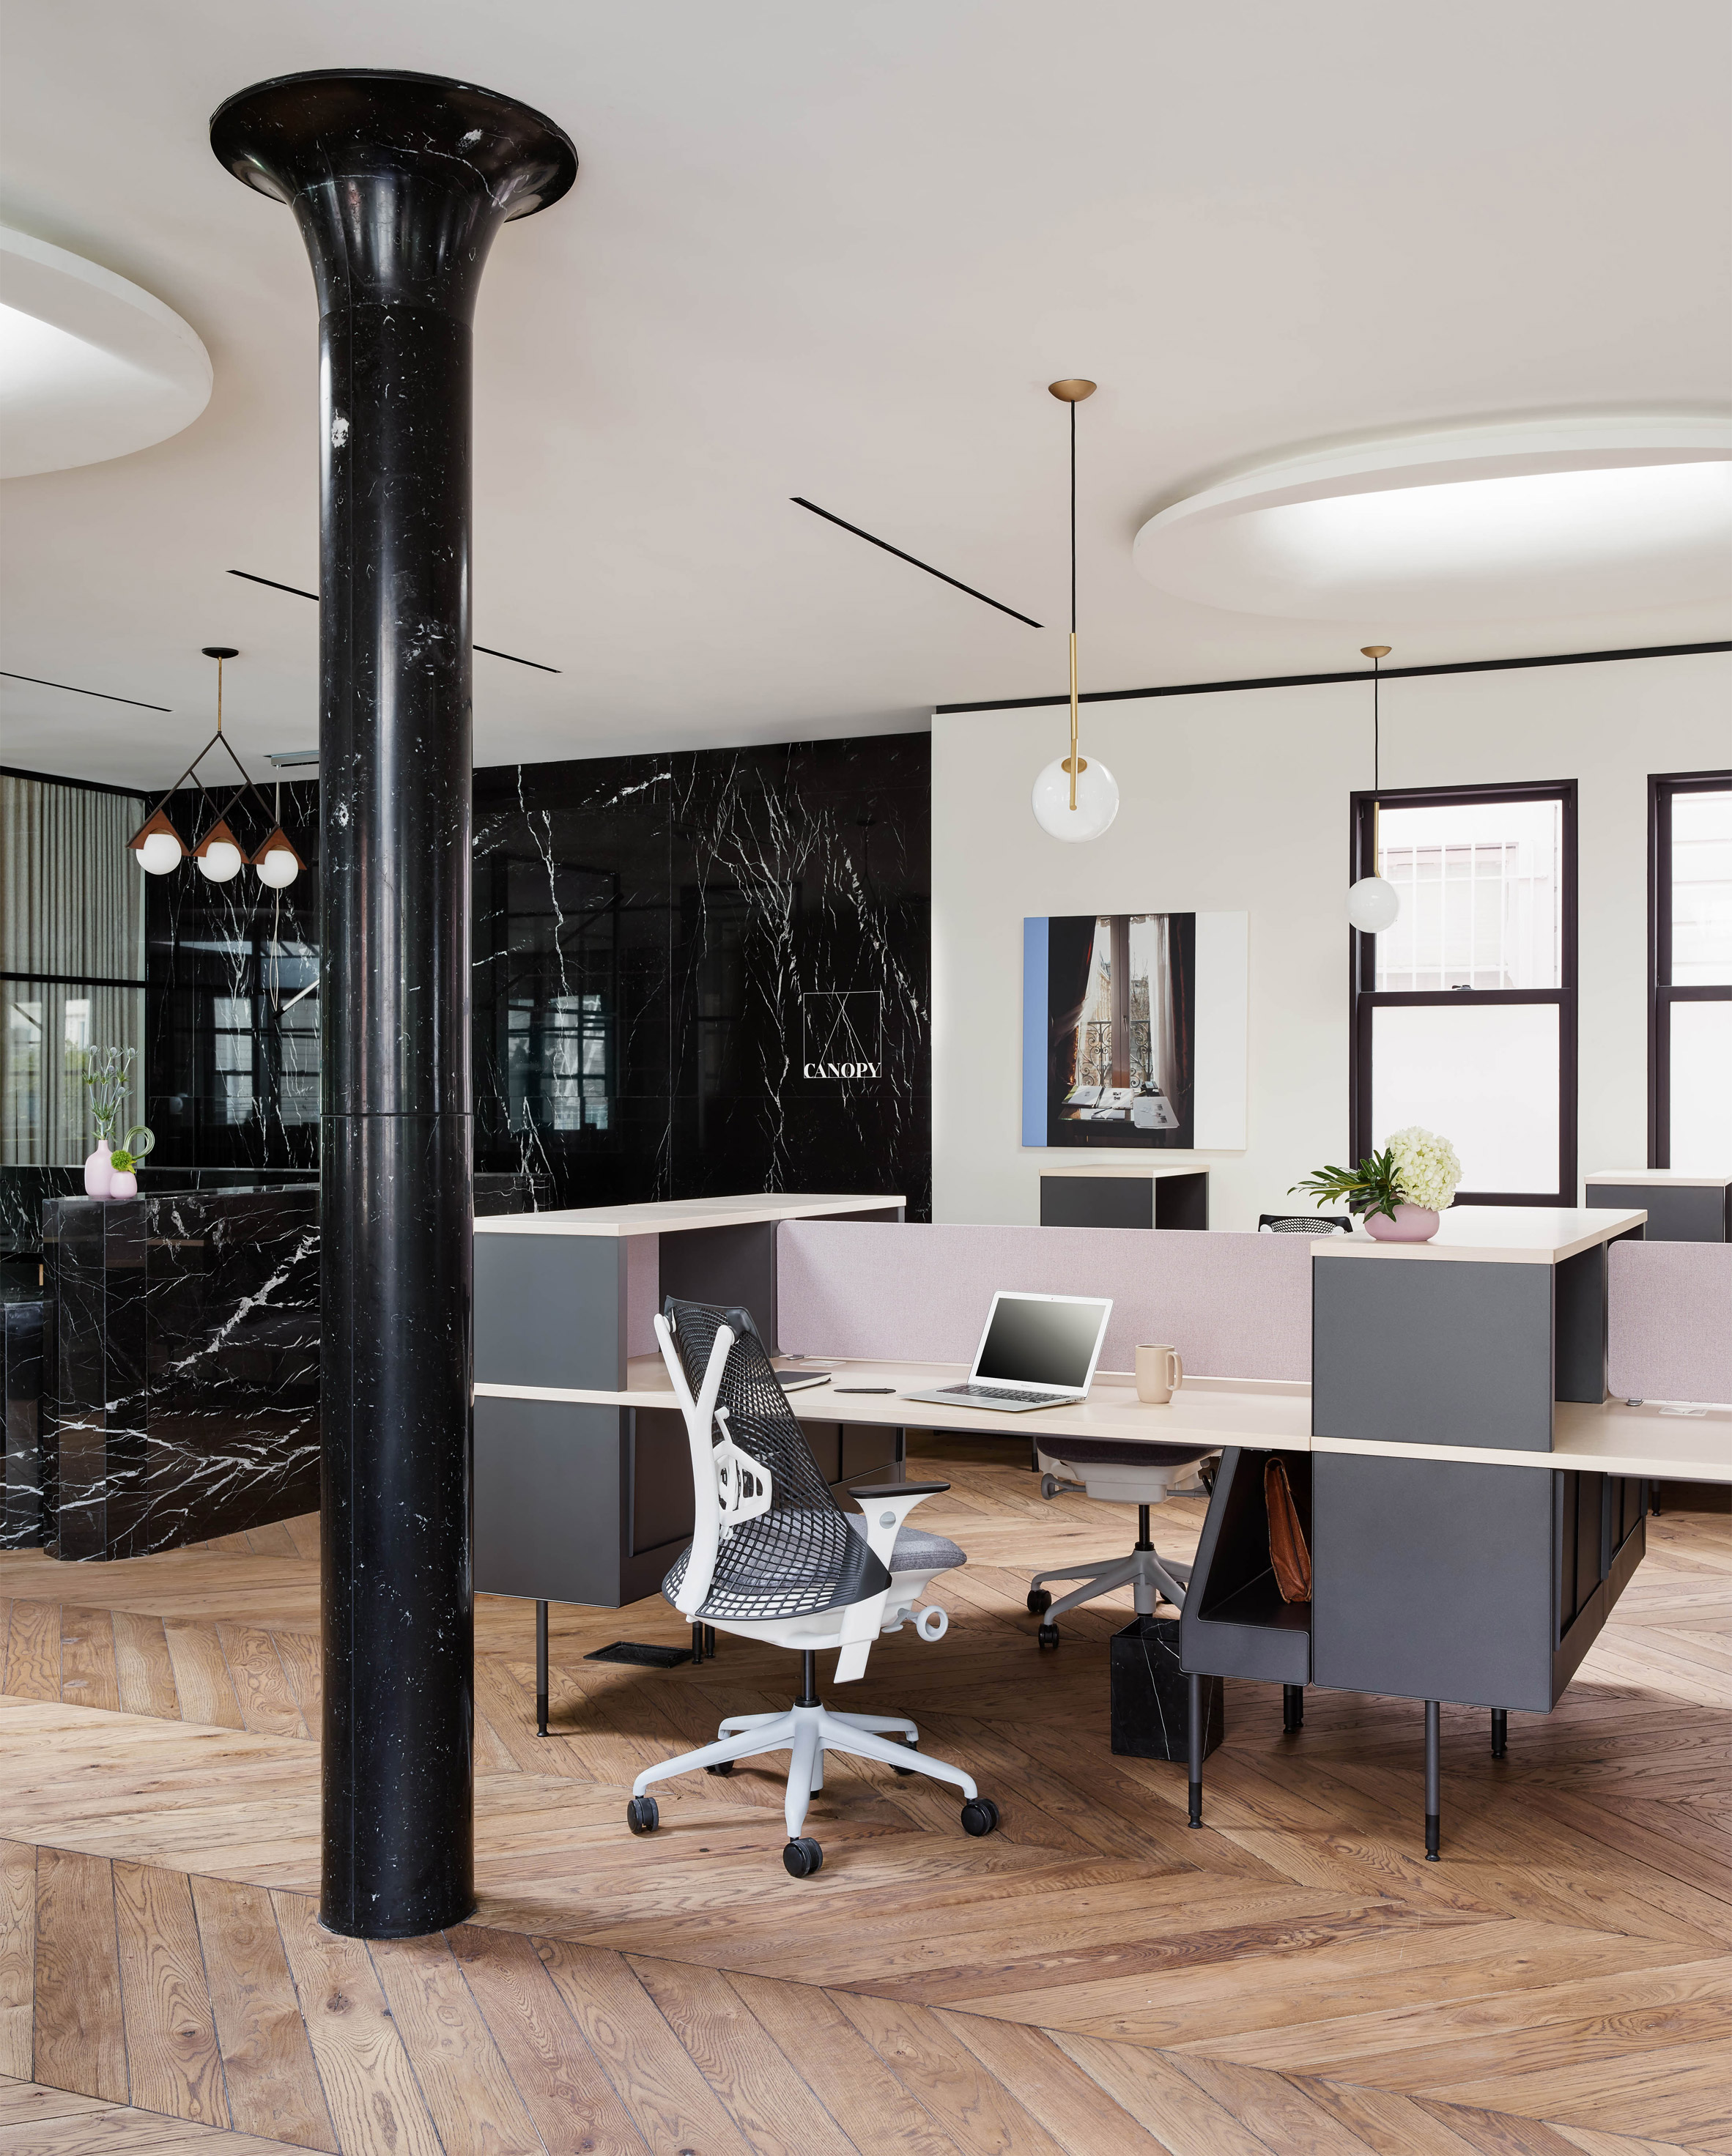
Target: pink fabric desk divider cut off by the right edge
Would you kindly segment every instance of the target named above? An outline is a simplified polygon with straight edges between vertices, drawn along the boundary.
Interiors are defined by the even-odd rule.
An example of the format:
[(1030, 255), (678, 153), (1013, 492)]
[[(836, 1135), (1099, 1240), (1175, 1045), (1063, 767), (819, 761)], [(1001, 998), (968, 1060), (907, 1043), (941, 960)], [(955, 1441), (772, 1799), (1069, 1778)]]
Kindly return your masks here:
[(1605, 1384), (1613, 1399), (1732, 1401), (1732, 1242), (1613, 1242)]

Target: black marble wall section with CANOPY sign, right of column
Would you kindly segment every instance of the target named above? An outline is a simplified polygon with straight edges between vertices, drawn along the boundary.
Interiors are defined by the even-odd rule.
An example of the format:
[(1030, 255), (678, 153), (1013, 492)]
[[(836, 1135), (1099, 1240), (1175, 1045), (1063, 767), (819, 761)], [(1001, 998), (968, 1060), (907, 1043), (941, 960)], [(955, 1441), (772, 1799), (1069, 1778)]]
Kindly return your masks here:
[(930, 737), (475, 774), (477, 1164), (932, 1210)]

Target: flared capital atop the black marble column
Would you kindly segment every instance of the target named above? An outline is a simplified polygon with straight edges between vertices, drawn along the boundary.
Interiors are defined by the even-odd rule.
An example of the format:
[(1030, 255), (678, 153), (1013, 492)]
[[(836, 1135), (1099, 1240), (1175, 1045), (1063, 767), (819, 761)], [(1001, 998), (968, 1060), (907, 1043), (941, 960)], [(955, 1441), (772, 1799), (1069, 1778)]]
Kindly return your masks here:
[(293, 207), (326, 315), (375, 302), (470, 321), (498, 226), (578, 175), (569, 136), (531, 106), (395, 69), (257, 82), (216, 108), (211, 149)]

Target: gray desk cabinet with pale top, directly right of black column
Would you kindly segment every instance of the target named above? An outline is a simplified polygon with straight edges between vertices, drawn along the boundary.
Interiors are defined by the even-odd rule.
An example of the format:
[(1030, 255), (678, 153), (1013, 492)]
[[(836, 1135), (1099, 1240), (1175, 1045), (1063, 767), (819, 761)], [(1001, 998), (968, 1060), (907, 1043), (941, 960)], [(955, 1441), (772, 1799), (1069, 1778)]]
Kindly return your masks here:
[[(744, 1197), (475, 1222), (475, 1589), (619, 1608), (692, 1533), (686, 1425), (632, 1404), (664, 1294), (740, 1302), (776, 1348), (776, 1222), (899, 1220), (902, 1199)], [(660, 1365), (658, 1365), (660, 1369)], [(807, 1425), (830, 1481), (899, 1432)], [(546, 1677), (537, 1684), (546, 1723)]]

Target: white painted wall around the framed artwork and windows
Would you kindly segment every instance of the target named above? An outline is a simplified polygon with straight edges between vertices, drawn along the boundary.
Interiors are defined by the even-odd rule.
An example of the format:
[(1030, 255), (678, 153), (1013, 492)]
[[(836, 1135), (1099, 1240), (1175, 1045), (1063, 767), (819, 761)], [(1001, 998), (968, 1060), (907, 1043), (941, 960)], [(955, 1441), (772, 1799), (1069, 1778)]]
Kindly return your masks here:
[[(1255, 1227), (1348, 1149), (1342, 901), (1348, 796), (1372, 778), (1370, 688), (1085, 705), (1083, 750), (1124, 802), (1094, 845), (1048, 839), (1029, 813), (1066, 724), (1059, 707), (932, 722), (934, 1220), (1037, 1220), (1042, 1164), (1078, 1160), (1018, 1143), (1025, 914), (1249, 908), (1249, 1145), (1195, 1158), (1212, 1171), (1212, 1225)], [(1648, 1158), (1648, 774), (1726, 765), (1726, 653), (1383, 692), (1389, 787), (1579, 783), (1581, 1173)]]

